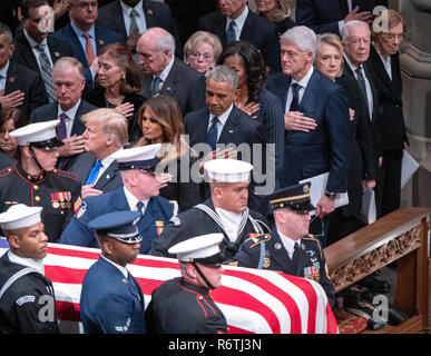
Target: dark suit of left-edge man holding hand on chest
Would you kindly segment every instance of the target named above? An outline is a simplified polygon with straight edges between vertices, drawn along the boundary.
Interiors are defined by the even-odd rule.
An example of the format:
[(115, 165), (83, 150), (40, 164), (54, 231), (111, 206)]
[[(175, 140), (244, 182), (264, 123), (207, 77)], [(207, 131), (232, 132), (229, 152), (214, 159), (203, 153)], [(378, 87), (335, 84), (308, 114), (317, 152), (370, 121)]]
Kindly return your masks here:
[(28, 117), (36, 108), (48, 103), (48, 96), (40, 75), (10, 60), (4, 95), (7, 96), (16, 90), (21, 90), (25, 93), (22, 105), (18, 109), (22, 110)]

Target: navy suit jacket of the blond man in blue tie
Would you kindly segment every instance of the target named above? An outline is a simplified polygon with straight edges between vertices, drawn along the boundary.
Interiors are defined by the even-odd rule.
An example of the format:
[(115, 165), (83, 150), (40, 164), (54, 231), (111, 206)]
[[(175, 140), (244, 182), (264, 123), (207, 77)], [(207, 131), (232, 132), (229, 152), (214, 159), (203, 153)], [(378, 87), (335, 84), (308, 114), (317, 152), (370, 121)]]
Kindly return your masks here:
[[(92, 152), (84, 152), (78, 155), (74, 165), (70, 168), (70, 172), (75, 174), (82, 186), (86, 184), (92, 167), (96, 164), (96, 156)], [(96, 182), (95, 189), (99, 189), (102, 192), (115, 190), (123, 186), (121, 175), (118, 170), (118, 164), (114, 160), (107, 169), (101, 174)]]

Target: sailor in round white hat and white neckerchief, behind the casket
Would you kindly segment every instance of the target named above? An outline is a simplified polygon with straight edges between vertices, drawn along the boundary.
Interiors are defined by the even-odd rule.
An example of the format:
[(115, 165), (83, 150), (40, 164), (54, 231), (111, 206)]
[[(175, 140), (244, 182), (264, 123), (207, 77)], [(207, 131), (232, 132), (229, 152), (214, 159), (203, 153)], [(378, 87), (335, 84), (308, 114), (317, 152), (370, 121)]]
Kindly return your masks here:
[(247, 208), (249, 172), (253, 166), (236, 159), (213, 159), (204, 165), (212, 196), (203, 204), (173, 217), (150, 255), (166, 256), (168, 249), (190, 236), (222, 233), (222, 254), (231, 259), (249, 236), (268, 233), (266, 219)]

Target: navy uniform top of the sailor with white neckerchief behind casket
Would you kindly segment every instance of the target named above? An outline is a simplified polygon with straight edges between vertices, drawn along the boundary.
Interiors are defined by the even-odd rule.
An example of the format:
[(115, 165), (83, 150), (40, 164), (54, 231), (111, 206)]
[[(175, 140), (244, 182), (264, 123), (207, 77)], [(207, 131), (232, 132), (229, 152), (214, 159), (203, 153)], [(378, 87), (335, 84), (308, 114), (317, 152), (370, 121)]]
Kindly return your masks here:
[(149, 255), (173, 257), (168, 254), (168, 249), (184, 241), (192, 236), (222, 233), (224, 235), (221, 244), (222, 254), (226, 259), (231, 259), (239, 249), (248, 237), (268, 233), (266, 219), (254, 210), (243, 212), (243, 221), (241, 224), (237, 238), (231, 241), (226, 229), (217, 215), (212, 199), (197, 205), (185, 212), (173, 217), (166, 225), (164, 233), (158, 239), (153, 240)]

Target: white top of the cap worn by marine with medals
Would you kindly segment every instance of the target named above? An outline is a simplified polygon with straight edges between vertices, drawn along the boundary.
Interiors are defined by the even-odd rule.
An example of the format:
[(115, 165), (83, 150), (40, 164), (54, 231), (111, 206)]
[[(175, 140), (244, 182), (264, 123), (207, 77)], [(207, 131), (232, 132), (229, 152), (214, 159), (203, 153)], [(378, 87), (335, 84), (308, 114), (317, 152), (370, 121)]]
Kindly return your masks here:
[(40, 142), (57, 137), (56, 127), (60, 120), (35, 122), (20, 127), (10, 132), (11, 137), (18, 138), (19, 146), (26, 146), (28, 142)]

